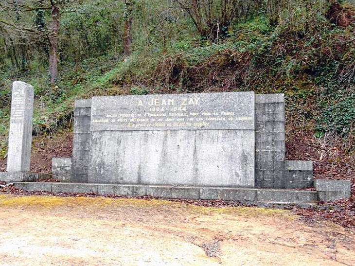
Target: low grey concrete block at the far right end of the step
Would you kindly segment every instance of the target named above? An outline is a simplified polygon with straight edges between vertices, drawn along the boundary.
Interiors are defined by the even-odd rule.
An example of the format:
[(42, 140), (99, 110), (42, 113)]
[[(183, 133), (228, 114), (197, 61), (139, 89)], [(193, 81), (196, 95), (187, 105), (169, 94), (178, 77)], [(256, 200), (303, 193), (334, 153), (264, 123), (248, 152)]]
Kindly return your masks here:
[(314, 180), (320, 201), (347, 199), (351, 196), (350, 180)]

